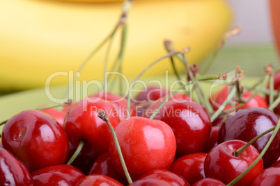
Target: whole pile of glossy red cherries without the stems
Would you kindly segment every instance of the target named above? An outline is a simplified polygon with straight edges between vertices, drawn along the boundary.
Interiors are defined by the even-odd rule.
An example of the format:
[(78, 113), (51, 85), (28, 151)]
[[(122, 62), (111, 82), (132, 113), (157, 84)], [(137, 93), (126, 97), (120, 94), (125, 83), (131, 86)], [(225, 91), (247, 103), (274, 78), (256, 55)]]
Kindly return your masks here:
[[(279, 85), (276, 74), (274, 90)], [(97, 92), (63, 110), (18, 113), (3, 127), (0, 185), (226, 185), (258, 158), (273, 131), (235, 152), (279, 122), (280, 106), (268, 110), (268, 99), (260, 95), (211, 122), (201, 104), (179, 92), (150, 119), (166, 92), (158, 87), (139, 92), (130, 117), (127, 99), (110, 92)], [(221, 104), (225, 92), (227, 87), (212, 101)], [(127, 171), (100, 110), (114, 128)], [(279, 185), (279, 156), (280, 132), (235, 185)]]

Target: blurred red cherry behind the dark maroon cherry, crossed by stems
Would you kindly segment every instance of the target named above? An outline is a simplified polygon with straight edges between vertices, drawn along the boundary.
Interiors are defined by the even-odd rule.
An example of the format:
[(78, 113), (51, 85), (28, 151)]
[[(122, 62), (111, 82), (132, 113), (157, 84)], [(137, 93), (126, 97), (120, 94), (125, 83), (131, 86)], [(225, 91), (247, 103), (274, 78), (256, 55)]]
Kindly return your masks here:
[[(210, 97), (210, 103), (214, 110), (218, 110), (219, 106), (227, 99), (228, 93), (229, 93), (228, 87), (226, 86)], [(244, 99), (249, 99), (253, 94), (254, 93), (252, 92), (244, 92), (243, 97)], [(224, 110), (228, 110), (229, 108), (235, 108), (238, 105), (240, 105), (240, 103), (236, 105), (226, 105)], [(254, 108), (254, 107), (268, 108), (267, 101), (262, 96), (256, 95), (248, 103), (242, 105), (241, 108)]]

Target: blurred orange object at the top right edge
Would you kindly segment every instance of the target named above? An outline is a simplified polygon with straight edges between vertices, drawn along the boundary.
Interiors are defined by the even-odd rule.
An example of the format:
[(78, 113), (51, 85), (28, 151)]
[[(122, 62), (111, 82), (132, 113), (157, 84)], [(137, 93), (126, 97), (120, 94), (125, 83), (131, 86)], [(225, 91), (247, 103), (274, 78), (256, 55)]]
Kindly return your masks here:
[(280, 1), (270, 0), (270, 10), (272, 18), (272, 29), (275, 38), (274, 43), (276, 44), (280, 57)]

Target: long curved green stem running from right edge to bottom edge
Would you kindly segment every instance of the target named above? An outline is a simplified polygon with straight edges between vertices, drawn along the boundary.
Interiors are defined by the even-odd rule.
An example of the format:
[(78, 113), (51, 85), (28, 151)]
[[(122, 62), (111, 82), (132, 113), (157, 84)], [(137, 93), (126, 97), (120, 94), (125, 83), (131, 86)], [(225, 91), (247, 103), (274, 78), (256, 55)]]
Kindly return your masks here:
[(258, 158), (256, 158), (256, 160), (244, 172), (242, 172), (242, 174), (240, 174), (238, 177), (236, 177), (234, 180), (231, 181), (231, 183), (228, 183), (228, 185), (226, 185), (226, 186), (232, 186), (235, 183), (237, 183), (238, 180), (240, 180), (245, 174), (247, 174), (247, 172), (249, 172), (258, 163), (258, 161), (261, 158), (263, 158), (263, 155), (265, 154), (267, 149), (270, 147), (270, 144), (272, 143), (272, 140), (277, 135), (277, 133), (279, 131), (279, 128), (280, 128), (280, 120), (278, 121), (277, 126), (275, 126), (274, 132), (270, 136), (270, 140), (268, 140), (267, 144), (265, 145), (265, 148), (263, 148), (263, 151), (261, 151), (260, 155), (258, 155)]

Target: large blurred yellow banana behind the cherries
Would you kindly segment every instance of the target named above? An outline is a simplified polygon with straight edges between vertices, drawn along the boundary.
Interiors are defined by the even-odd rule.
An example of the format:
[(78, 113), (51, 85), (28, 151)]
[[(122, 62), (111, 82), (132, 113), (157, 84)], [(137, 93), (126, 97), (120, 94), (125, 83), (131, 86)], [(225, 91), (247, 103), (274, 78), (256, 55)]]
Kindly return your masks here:
[[(0, 90), (43, 87), (46, 81), (68, 83), (70, 72), (109, 35), (120, 16), (121, 2), (92, 1), (0, 1)], [(224, 0), (134, 1), (128, 15), (123, 74), (133, 78), (166, 55), (166, 39), (176, 49), (190, 47), (190, 63), (203, 60), (228, 30), (232, 17)], [(108, 69), (118, 54), (120, 34), (112, 42)], [(77, 81), (104, 78), (106, 51), (107, 46), (81, 74), (75, 74)], [(163, 75), (166, 70), (171, 70), (169, 59), (149, 69), (146, 76)]]

